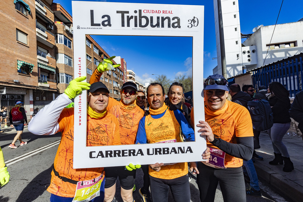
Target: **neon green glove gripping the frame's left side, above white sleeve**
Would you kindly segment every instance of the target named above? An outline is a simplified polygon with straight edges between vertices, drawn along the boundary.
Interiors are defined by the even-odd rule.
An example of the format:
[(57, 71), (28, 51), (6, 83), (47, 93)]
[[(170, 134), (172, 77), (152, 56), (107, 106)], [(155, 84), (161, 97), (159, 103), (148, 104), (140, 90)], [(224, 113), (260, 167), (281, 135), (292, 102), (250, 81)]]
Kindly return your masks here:
[(69, 82), (68, 87), (65, 89), (64, 93), (69, 99), (75, 98), (76, 94), (81, 93), (84, 89), (89, 90), (91, 84), (86, 82), (81, 82), (86, 79), (86, 76), (78, 77)]

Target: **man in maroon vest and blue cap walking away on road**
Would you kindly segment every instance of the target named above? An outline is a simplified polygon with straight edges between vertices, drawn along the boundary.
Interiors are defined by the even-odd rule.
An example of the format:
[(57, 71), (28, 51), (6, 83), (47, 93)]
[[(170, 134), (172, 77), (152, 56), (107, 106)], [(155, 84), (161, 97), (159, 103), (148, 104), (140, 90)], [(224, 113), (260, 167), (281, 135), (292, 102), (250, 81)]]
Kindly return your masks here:
[(17, 131), (17, 135), (15, 136), (14, 140), (12, 141), (12, 144), (10, 144), (8, 147), (15, 149), (18, 146), (15, 145), (15, 142), (17, 140), (20, 141), (20, 146), (23, 146), (27, 144), (27, 142), (22, 141), (21, 134), (23, 133), (24, 125), (27, 125), (27, 118), (25, 114), (25, 109), (21, 107), (23, 102), (21, 101), (15, 101), (15, 107), (9, 111), (9, 122), (11, 124), (11, 127), (15, 127)]

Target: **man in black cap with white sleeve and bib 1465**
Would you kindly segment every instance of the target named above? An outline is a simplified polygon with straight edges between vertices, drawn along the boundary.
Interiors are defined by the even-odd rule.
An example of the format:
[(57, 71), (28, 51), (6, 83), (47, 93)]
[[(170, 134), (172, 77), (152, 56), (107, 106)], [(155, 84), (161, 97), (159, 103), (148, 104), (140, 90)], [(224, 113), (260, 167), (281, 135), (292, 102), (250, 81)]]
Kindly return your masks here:
[[(118, 120), (106, 110), (109, 94), (107, 87), (102, 82), (92, 85), (81, 82), (85, 78), (86, 76), (83, 76), (72, 80), (65, 92), (42, 108), (28, 125), (28, 131), (37, 135), (62, 133), (54, 161), (51, 184), (47, 189), (51, 193), (51, 202), (72, 201), (81, 197), (81, 190), (80, 196), (77, 195), (79, 193), (77, 183), (79, 181), (85, 183), (93, 179), (100, 180), (100, 190), (97, 190), (100, 196), (95, 194), (95, 187), (90, 187), (90, 190), (95, 191), (85, 193), (85, 197), (93, 198), (90, 201), (94, 202), (104, 200), (104, 168), (73, 169), (74, 108), (65, 108), (65, 106), (72, 102), (71, 99), (75, 98), (76, 94), (81, 93), (82, 90), (88, 90), (87, 134), (89, 135), (87, 135), (86, 146), (121, 144)], [(94, 198), (94, 195), (97, 197)]]

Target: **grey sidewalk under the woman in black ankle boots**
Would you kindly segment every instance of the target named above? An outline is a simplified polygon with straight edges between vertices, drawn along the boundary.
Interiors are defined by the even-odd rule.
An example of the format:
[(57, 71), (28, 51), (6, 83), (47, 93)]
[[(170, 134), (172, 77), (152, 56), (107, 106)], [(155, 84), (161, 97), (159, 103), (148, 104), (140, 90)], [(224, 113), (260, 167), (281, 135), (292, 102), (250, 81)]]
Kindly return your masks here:
[(303, 141), (301, 136), (291, 137), (285, 134), (283, 142), (287, 147), (290, 159), (294, 164), (295, 170), (284, 172), (284, 165), (271, 165), (268, 162), (274, 158), (274, 151), (271, 139), (268, 134), (261, 132), (260, 149), (257, 154), (264, 157), (263, 160), (255, 160), (255, 168), (259, 178), (268, 182), (281, 193), (285, 194), (296, 202), (303, 200)]

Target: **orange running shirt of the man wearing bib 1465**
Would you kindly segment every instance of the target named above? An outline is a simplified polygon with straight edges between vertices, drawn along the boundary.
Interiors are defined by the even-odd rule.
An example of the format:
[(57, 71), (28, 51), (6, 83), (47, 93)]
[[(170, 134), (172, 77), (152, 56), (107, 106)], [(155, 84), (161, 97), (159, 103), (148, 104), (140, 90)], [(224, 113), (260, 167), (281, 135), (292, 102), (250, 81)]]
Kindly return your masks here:
[[(91, 180), (104, 174), (103, 167), (73, 169), (74, 151), (74, 108), (63, 109), (58, 119), (59, 131), (62, 133), (54, 161), (55, 170), (60, 176), (76, 181)], [(59, 132), (58, 131), (58, 132)], [(119, 145), (118, 120), (106, 113), (101, 119), (87, 116), (87, 146)], [(48, 192), (62, 197), (74, 197), (76, 184), (64, 182), (52, 171)]]

